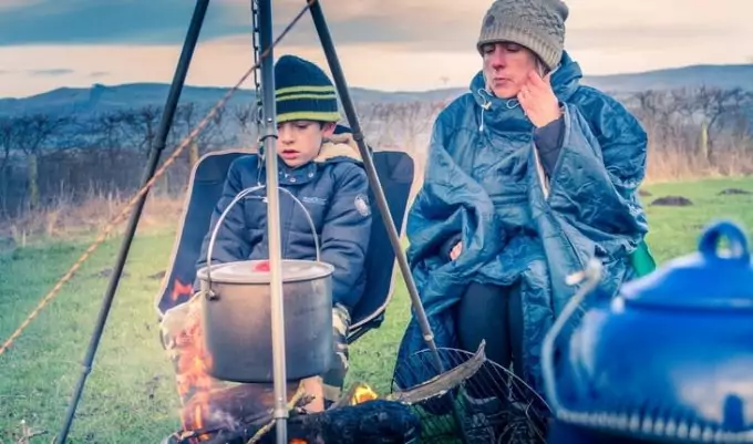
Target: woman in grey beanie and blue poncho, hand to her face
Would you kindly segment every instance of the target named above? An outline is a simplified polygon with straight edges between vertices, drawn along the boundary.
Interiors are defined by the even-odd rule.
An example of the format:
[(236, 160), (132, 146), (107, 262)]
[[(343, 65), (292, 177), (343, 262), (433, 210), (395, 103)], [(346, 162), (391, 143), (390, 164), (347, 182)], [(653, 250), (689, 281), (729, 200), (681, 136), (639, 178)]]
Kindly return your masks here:
[[(439, 347), (509, 366), (539, 393), (540, 344), (590, 257), (612, 293), (648, 231), (638, 200), (647, 135), (617, 101), (580, 85), (559, 0), (497, 0), (471, 91), (437, 117), (408, 251)], [(650, 259), (650, 256), (647, 256)], [(640, 265), (640, 264), (639, 264)], [(638, 265), (638, 266), (639, 266)], [(646, 271), (646, 270), (639, 270)], [(415, 319), (399, 363), (425, 349)], [(401, 385), (430, 378), (400, 374)]]

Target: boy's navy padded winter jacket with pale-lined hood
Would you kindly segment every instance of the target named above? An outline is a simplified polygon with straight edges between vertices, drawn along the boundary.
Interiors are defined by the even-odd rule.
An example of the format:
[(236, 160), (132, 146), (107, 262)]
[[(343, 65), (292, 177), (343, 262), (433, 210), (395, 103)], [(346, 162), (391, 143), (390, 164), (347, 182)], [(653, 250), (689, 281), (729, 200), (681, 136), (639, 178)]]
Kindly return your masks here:
[[(260, 164), (261, 162), (261, 164)], [(212, 216), (197, 268), (206, 266), (212, 231), (227, 205), (243, 189), (266, 183), (260, 156), (249, 154), (230, 165), (223, 197)], [(363, 293), (364, 261), (371, 235), (369, 182), (351, 134), (338, 134), (307, 165), (279, 165), (279, 186), (295, 195), (310, 214), (320, 239), (321, 260), (334, 267), (332, 301), (352, 310)], [(240, 200), (217, 233), (212, 264), (268, 259), (266, 188)], [(254, 197), (256, 196), (256, 198)], [(279, 194), (283, 259), (316, 259), (311, 227), (300, 206), (285, 192)]]

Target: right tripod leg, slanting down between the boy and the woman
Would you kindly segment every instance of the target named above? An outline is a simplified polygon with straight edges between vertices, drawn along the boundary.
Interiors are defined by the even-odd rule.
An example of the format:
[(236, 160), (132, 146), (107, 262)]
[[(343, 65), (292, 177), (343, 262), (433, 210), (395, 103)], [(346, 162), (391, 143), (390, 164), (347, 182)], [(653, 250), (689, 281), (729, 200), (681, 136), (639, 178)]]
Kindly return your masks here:
[(426, 318), (426, 312), (423, 308), (423, 303), (419, 298), (419, 290), (415, 287), (415, 281), (413, 280), (413, 275), (411, 273), (411, 268), (408, 265), (408, 259), (400, 245), (400, 237), (398, 235), (398, 229), (392, 223), (392, 215), (390, 214), (390, 207), (388, 206), (386, 198), (384, 197), (384, 190), (382, 189), (382, 184), (376, 175), (376, 168), (374, 163), (369, 155), (369, 149), (363, 141), (363, 133), (361, 131), (361, 124), (359, 123), (358, 115), (355, 114), (355, 106), (350, 96), (350, 91), (348, 89), (348, 82), (342, 73), (342, 68), (340, 66), (340, 61), (338, 54), (334, 50), (334, 43), (332, 42), (332, 37), (330, 35), (329, 29), (327, 27), (327, 20), (324, 19), (324, 12), (321, 9), (321, 2), (314, 1), (311, 7), (311, 18), (313, 19), (313, 24), (319, 34), (319, 40), (321, 41), (322, 49), (324, 50), (324, 55), (327, 56), (327, 62), (329, 64), (330, 71), (332, 72), (332, 78), (334, 80), (334, 85), (338, 89), (338, 94), (342, 101), (342, 107), (345, 111), (345, 116), (348, 117), (348, 123), (350, 124), (351, 131), (353, 132), (353, 138), (358, 143), (358, 148), (361, 152), (361, 157), (363, 158), (363, 164), (367, 169), (367, 176), (369, 177), (369, 185), (374, 192), (374, 198), (376, 200), (376, 206), (379, 207), (379, 213), (386, 228), (388, 236), (390, 237), (390, 244), (392, 244), (392, 249), (394, 250), (395, 258), (398, 259), (398, 266), (405, 280), (405, 286), (408, 287), (408, 292), (411, 297), (411, 303), (415, 310), (415, 316), (419, 320), (419, 326), (421, 327), (421, 332), (432, 351), (435, 360), (436, 370), (443, 372), (442, 361), (439, 357), (439, 351), (436, 350), (436, 343), (434, 342), (434, 333), (432, 332), (431, 326), (429, 324), (429, 319)]

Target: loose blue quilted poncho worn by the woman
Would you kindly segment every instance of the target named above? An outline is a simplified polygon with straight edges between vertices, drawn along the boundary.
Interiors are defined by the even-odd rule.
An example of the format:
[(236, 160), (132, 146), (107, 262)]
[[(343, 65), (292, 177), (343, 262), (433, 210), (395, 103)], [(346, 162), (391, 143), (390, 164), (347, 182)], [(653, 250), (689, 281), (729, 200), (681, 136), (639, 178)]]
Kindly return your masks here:
[[(471, 91), (436, 118), (406, 227), (409, 262), (437, 347), (458, 347), (450, 309), (470, 282), (520, 283), (523, 366), (541, 394), (544, 335), (577, 290), (566, 277), (597, 257), (606, 266), (605, 290), (613, 295), (633, 276), (629, 254), (648, 230), (637, 196), (646, 132), (622, 105), (580, 79), (580, 68), (565, 53), (551, 75), (564, 105), (561, 147), (546, 175), (533, 124), (516, 100), (489, 95), (479, 72)], [(453, 237), (463, 251), (451, 261), (442, 250)], [(424, 349), (413, 318), (398, 365)], [(403, 383), (432, 375), (415, 372)]]

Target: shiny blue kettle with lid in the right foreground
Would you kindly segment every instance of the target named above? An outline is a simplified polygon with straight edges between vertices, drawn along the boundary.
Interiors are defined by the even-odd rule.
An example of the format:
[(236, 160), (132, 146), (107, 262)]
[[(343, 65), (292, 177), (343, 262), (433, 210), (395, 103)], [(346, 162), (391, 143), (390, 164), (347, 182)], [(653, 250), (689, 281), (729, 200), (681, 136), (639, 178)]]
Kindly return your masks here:
[[(720, 251), (722, 240), (730, 252)], [(625, 283), (613, 299), (595, 290), (600, 267), (589, 266), (589, 282), (544, 341), (547, 401), (556, 422), (577, 430), (550, 443), (605, 442), (597, 434), (608, 442), (753, 443), (747, 240), (720, 221), (698, 249)], [(559, 335), (587, 295), (594, 307), (569, 338)]]

